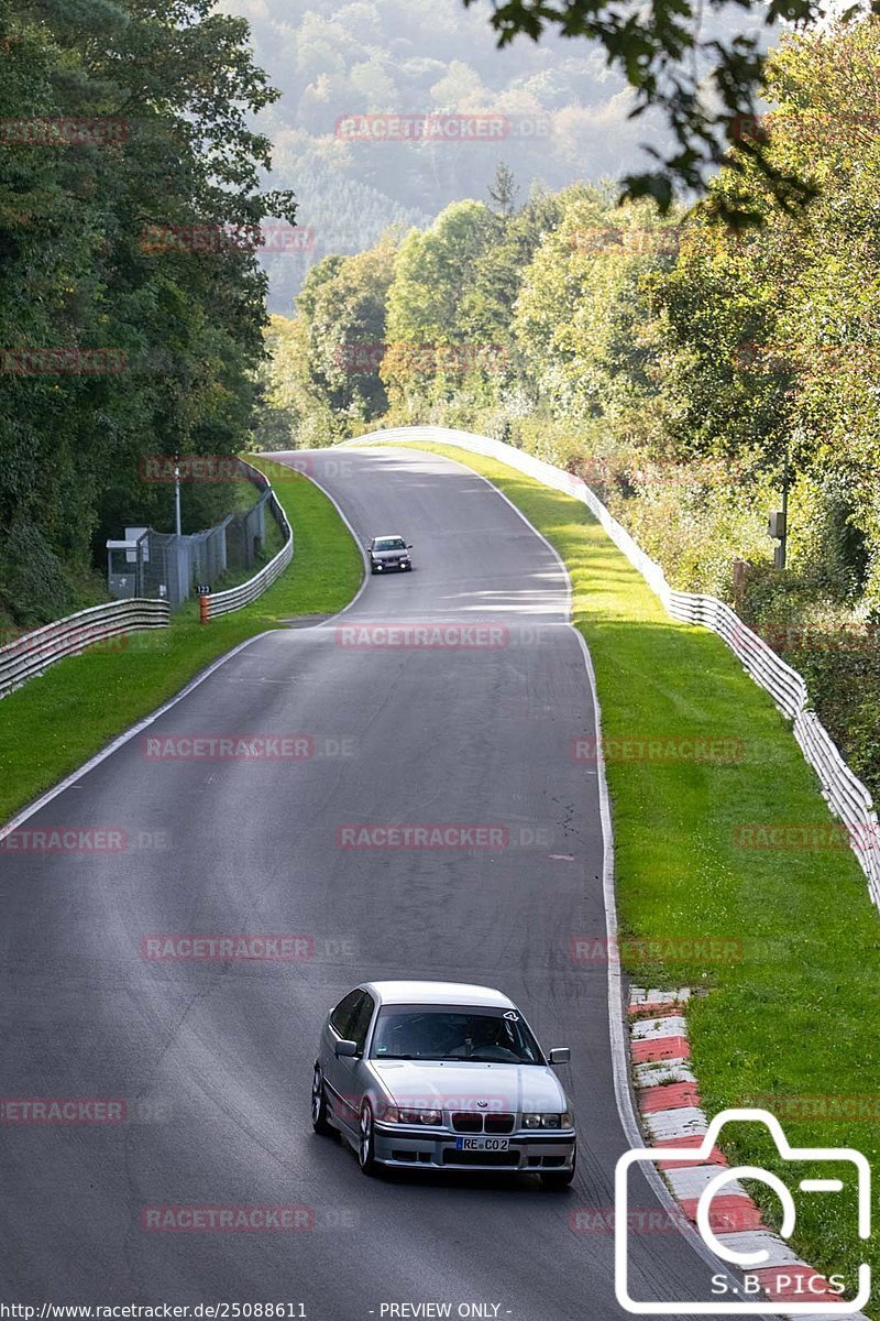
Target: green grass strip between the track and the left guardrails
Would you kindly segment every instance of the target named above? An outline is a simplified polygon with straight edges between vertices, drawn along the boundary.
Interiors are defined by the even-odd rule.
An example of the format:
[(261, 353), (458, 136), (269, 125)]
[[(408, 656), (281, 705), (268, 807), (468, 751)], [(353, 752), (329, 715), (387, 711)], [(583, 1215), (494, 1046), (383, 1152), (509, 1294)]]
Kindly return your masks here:
[(299, 474), (274, 489), (293, 526), (294, 556), (259, 601), (208, 625), (199, 624), (198, 602), (190, 601), (169, 629), (62, 660), (0, 701), (0, 822), (239, 642), (282, 620), (332, 614), (351, 600), (363, 561), (332, 503)]

